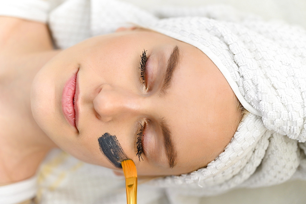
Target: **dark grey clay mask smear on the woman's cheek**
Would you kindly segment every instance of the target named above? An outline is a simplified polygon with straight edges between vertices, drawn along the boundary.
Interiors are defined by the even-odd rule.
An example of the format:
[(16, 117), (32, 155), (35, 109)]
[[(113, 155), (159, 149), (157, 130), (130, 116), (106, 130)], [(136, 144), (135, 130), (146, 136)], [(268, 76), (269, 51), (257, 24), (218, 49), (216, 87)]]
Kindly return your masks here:
[(117, 168), (122, 168), (121, 161), (128, 159), (115, 135), (103, 134), (98, 138), (101, 152)]

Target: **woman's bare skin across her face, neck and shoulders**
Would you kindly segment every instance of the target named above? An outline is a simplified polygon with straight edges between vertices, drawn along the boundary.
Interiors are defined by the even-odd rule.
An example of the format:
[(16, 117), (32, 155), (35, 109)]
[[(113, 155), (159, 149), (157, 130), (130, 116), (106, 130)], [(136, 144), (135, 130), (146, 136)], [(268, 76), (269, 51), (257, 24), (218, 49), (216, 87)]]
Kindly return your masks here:
[[(120, 28), (58, 51), (52, 50), (46, 25), (16, 21), (7, 22), (14, 29), (0, 33), (2, 44), (10, 49), (1, 53), (6, 65), (1, 78), (12, 79), (0, 82), (1, 94), (6, 96), (0, 104), (6, 115), (0, 123), (5, 130), (0, 138), (0, 175), (1, 171), (7, 175), (0, 183), (32, 176), (47, 152), (57, 146), (82, 161), (122, 172), (99, 149), (98, 138), (106, 132), (116, 135), (143, 176), (179, 175), (206, 166), (233, 137), (240, 119), (238, 100), (218, 68), (196, 47), (157, 32)], [(36, 26), (39, 35), (26, 32), (25, 24)], [(22, 49), (14, 44), (21, 33), (27, 35)], [(4, 43), (8, 38), (11, 43)], [(175, 46), (179, 65), (168, 89), (161, 92)], [(149, 56), (147, 87), (139, 69), (144, 49)], [(77, 70), (78, 130), (67, 122), (61, 105), (65, 82)], [(167, 123), (177, 155), (173, 168), (163, 144), (161, 119)], [(139, 161), (136, 134), (144, 123), (143, 161)], [(29, 166), (32, 171), (27, 170)]]

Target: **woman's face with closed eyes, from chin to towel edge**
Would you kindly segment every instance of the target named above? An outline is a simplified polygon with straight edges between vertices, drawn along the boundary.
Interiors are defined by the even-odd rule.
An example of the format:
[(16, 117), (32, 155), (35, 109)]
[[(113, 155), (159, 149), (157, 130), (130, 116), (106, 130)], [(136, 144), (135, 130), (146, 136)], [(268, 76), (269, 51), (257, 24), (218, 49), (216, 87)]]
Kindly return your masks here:
[[(76, 73), (74, 127), (62, 97)], [(98, 141), (116, 136), (112, 148), (121, 146), (137, 173), (147, 176), (206, 166), (230, 142), (240, 117), (232, 89), (203, 52), (138, 28), (60, 52), (36, 75), (31, 106), (36, 122), (63, 150), (122, 171)]]

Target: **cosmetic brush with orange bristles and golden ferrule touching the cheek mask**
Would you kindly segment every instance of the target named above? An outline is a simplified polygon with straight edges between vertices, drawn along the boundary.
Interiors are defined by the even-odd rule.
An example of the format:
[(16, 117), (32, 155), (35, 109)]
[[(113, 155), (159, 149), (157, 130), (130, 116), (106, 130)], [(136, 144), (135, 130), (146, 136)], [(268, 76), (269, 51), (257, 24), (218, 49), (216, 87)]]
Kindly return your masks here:
[(137, 171), (131, 159), (121, 161), (125, 176), (126, 202), (127, 204), (137, 203)]

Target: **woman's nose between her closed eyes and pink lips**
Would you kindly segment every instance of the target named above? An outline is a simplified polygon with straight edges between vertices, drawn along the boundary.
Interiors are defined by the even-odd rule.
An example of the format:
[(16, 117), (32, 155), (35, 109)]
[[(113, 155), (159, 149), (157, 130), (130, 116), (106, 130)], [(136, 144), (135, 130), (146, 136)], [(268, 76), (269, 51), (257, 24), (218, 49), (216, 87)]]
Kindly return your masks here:
[(96, 116), (103, 122), (108, 122), (122, 115), (136, 114), (140, 111), (141, 100), (140, 96), (126, 90), (102, 85), (93, 100), (93, 106)]

